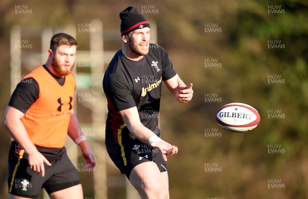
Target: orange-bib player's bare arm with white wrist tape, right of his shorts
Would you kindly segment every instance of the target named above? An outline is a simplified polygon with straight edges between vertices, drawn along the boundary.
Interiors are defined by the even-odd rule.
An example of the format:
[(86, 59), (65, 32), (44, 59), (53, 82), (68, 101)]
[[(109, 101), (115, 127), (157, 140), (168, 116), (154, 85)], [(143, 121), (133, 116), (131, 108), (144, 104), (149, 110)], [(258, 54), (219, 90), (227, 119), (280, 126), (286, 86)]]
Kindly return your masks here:
[(88, 142), (86, 141), (86, 138), (82, 132), (82, 128), (80, 127), (78, 118), (73, 111), (70, 116), (67, 134), (77, 145), (79, 145), (86, 162), (90, 163), (91, 168), (95, 168), (97, 165), (97, 161), (95, 159), (94, 153), (92, 152)]

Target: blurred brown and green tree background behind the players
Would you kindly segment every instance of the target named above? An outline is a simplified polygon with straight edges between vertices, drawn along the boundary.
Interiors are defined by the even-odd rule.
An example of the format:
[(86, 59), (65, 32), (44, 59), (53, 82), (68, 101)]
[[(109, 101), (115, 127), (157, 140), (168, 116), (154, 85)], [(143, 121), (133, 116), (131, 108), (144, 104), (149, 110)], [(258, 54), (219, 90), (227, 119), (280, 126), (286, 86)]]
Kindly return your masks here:
[[(18, 15), (16, 5), (28, 5), (33, 13)], [(159, 45), (180, 77), (194, 83), (194, 99), (187, 104), (176, 103), (163, 90), (162, 137), (179, 147), (179, 154), (168, 159), (170, 198), (307, 198), (308, 3), (304, 0), (1, 1), (0, 115), (10, 98), (11, 27), (78, 26), (99, 18), (104, 30), (119, 30), (119, 12), (130, 5), (156, 21)], [(217, 29), (209, 32), (206, 28), (212, 26)], [(120, 30), (117, 34), (119, 40), (104, 43), (104, 49), (121, 48)], [(78, 40), (79, 50), (88, 48), (83, 36)], [(282, 46), (268, 46), (274, 42)], [(210, 61), (219, 67), (207, 67)], [(255, 107), (261, 115), (259, 126), (243, 133), (218, 126), (216, 111), (231, 102)], [(82, 115), (79, 112), (80, 122), (86, 118)], [(10, 137), (3, 123), (0, 127), (0, 198), (5, 198)], [(218, 136), (205, 136), (210, 131)], [(268, 152), (275, 146), (282, 152)], [(220, 172), (207, 172), (209, 167)], [(123, 198), (123, 191), (108, 188), (108, 197)], [(91, 195), (90, 188), (85, 192)]]

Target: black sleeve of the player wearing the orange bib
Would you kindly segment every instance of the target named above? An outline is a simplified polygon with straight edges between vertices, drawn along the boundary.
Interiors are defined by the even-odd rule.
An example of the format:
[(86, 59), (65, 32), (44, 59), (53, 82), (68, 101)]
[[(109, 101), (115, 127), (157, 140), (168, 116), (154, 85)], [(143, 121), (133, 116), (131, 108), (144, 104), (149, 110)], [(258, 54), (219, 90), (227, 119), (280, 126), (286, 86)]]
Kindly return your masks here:
[(17, 84), (11, 96), (9, 106), (26, 113), (39, 95), (40, 87), (38, 87), (37, 82), (31, 77), (23, 79)]

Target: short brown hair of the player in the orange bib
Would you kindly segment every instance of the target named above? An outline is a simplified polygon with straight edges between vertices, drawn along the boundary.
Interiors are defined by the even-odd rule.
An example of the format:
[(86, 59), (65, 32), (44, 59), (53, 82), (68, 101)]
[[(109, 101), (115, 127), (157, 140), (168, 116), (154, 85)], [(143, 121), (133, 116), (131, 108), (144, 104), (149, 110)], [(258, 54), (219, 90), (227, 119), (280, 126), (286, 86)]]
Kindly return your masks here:
[(50, 49), (54, 52), (57, 47), (61, 45), (68, 45), (68, 46), (76, 46), (78, 47), (78, 42), (76, 39), (66, 33), (57, 33), (51, 37), (50, 40)]

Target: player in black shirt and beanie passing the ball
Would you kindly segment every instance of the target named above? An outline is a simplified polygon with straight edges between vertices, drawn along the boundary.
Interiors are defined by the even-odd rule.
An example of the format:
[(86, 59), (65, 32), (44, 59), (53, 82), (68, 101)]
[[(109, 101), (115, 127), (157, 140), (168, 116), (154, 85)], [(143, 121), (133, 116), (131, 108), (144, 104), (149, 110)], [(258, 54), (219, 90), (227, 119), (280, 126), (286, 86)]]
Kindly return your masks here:
[(103, 88), (108, 101), (106, 148), (142, 198), (169, 198), (166, 156), (178, 147), (160, 138), (162, 82), (177, 101), (191, 100), (168, 54), (149, 43), (149, 21), (134, 7), (120, 13), (123, 47), (109, 63)]

